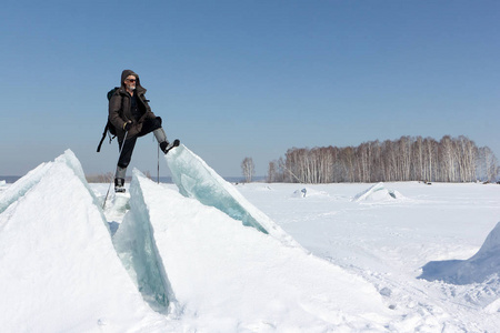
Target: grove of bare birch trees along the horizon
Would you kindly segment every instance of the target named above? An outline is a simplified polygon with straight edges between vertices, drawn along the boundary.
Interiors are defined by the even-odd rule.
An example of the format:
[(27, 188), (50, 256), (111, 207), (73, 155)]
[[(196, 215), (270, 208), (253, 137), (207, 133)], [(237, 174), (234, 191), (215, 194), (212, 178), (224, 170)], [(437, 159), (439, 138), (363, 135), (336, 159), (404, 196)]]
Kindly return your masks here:
[(401, 137), (358, 147), (292, 148), (271, 161), (269, 182), (496, 181), (498, 160), (467, 137)]

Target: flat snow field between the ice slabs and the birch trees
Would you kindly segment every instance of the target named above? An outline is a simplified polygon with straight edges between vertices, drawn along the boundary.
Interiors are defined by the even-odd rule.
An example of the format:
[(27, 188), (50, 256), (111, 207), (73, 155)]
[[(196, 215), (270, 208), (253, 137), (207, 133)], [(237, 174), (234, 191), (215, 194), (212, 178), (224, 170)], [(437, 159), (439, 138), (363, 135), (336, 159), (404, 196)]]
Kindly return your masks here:
[[(468, 260), (487, 244), (500, 220), (500, 186), (388, 183), (403, 199), (381, 201), (354, 200), (373, 184), (307, 185), (317, 195), (291, 195), (299, 186), (237, 188), (314, 255), (372, 283), (400, 315), (389, 330), (496, 332), (500, 326), (498, 270), (467, 285), (418, 279), (428, 262)], [(498, 251), (490, 255), (498, 256)]]

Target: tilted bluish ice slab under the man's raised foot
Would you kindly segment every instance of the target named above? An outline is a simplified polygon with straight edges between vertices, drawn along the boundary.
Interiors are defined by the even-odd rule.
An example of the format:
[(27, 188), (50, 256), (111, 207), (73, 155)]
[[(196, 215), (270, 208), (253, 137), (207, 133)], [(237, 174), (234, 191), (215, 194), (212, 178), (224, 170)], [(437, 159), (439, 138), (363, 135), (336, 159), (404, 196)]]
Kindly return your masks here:
[(284, 244), (300, 246), (280, 226), (252, 205), (241, 193), (201, 158), (183, 144), (166, 155), (173, 182), (182, 195), (214, 206), (243, 225), (269, 233)]

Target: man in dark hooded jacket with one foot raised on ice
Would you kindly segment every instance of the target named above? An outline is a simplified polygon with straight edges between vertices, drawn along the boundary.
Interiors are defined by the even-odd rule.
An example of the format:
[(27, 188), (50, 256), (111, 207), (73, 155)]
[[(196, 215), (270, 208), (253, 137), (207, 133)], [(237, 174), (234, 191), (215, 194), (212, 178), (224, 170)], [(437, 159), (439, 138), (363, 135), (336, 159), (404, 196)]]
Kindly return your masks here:
[(116, 192), (124, 192), (127, 167), (132, 159), (137, 138), (153, 132), (161, 151), (168, 152), (169, 141), (161, 127), (161, 118), (151, 111), (144, 93), (146, 89), (141, 85), (139, 75), (131, 70), (124, 70), (121, 73), (120, 88), (109, 100), (109, 121), (117, 131), (121, 150), (114, 173)]

